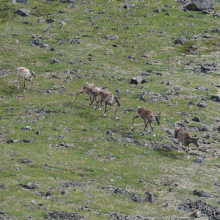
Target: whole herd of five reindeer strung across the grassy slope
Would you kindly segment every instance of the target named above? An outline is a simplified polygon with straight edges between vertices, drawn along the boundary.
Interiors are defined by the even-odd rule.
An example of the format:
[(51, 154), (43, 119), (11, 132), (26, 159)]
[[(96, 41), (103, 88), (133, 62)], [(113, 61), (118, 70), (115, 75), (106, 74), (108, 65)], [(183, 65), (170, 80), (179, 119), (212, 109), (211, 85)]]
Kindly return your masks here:
[[(35, 71), (30, 71), (24, 67), (18, 67), (17, 69), (18, 69), (18, 80), (17, 80), (18, 81), (18, 89), (19, 89), (19, 79), (20, 78), (22, 78), (24, 80), (24, 89), (25, 89), (25, 81), (30, 81), (32, 83), (31, 84), (31, 89), (32, 89), (32, 86), (33, 86), (32, 79), (36, 77)], [(91, 106), (95, 101), (95, 103), (96, 103), (94, 105), (95, 111), (98, 107), (99, 107), (99, 110), (102, 110), (102, 103), (105, 104), (105, 109), (102, 113), (102, 116), (106, 116), (105, 113), (107, 112), (107, 105), (111, 105), (113, 107), (113, 111), (114, 111), (116, 120), (119, 119), (116, 116), (115, 106), (117, 104), (120, 107), (120, 105), (121, 105), (120, 99), (119, 99), (119, 97), (116, 97), (114, 94), (109, 92), (106, 88), (104, 88), (104, 87), (99, 88), (99, 87), (95, 86), (94, 83), (86, 82), (82, 86), (82, 89), (76, 93), (76, 96), (75, 96), (73, 103), (76, 101), (77, 96), (81, 93), (85, 93), (85, 94), (89, 95), (89, 97), (90, 97), (89, 106)], [(134, 116), (133, 121), (132, 121), (131, 130), (133, 130), (134, 120), (138, 117), (141, 117), (144, 119), (144, 124), (145, 124), (144, 131), (147, 128), (148, 132), (149, 132), (149, 128), (148, 128), (148, 124), (149, 124), (149, 126), (152, 130), (152, 133), (153, 133), (153, 127), (152, 127), (151, 123), (156, 121), (158, 123), (158, 125), (160, 125), (160, 116), (161, 116), (161, 112), (158, 115), (154, 115), (154, 113), (151, 110), (149, 110), (143, 106), (138, 106), (136, 115)], [(156, 135), (153, 133), (153, 136), (156, 136)], [(176, 127), (174, 129), (173, 137), (176, 138), (179, 143), (182, 143), (182, 146), (180, 146), (180, 145), (179, 146), (187, 153), (188, 158), (189, 158), (189, 145), (191, 143), (196, 145), (199, 148), (198, 137), (191, 137), (190, 134), (187, 131), (185, 131), (184, 129), (182, 129), (181, 127)]]

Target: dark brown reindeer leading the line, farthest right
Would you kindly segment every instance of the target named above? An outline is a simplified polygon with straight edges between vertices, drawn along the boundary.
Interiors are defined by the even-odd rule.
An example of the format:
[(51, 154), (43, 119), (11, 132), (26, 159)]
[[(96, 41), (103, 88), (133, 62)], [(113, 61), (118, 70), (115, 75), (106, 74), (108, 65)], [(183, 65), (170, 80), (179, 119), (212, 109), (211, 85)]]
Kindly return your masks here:
[(179, 142), (182, 143), (182, 147), (181, 146), (180, 147), (187, 153), (187, 158), (189, 158), (189, 145), (191, 143), (195, 144), (196, 147), (199, 148), (198, 137), (191, 137), (190, 134), (187, 131), (183, 130), (182, 128), (175, 128), (174, 138), (176, 138)]

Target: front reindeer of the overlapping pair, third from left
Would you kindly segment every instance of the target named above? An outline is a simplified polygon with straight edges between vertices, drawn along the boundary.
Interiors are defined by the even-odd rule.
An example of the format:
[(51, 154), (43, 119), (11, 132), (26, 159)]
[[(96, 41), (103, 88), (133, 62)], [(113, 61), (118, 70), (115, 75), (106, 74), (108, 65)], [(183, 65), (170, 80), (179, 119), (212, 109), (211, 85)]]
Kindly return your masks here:
[[(96, 104), (96, 108), (98, 106), (98, 103), (100, 102), (100, 109), (102, 108), (102, 102), (105, 103), (105, 110), (102, 113), (102, 116), (105, 116), (105, 113), (107, 112), (107, 105), (113, 106), (113, 111), (115, 113), (115, 119), (118, 120), (119, 118), (116, 116), (116, 110), (115, 105), (118, 104), (120, 107), (121, 103), (119, 101), (119, 98), (117, 98), (115, 95), (113, 95), (111, 92), (109, 92), (106, 89), (100, 89), (98, 92), (100, 100)], [(95, 110), (96, 110), (95, 108)]]

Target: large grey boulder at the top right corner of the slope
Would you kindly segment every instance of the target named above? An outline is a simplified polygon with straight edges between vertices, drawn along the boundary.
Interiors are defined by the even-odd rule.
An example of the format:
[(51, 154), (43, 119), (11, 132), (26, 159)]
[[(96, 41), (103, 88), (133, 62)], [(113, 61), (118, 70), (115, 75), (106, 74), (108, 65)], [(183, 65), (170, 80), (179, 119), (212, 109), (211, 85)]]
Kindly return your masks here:
[(189, 11), (213, 10), (215, 8), (215, 0), (193, 0), (184, 8)]

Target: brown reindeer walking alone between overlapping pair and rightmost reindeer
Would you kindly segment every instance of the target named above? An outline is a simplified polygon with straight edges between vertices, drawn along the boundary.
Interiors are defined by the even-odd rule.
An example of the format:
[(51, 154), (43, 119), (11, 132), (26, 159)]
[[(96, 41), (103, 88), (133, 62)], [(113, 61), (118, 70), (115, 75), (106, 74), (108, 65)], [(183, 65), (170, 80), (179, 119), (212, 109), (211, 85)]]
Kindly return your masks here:
[[(149, 129), (148, 129), (148, 123), (149, 123), (150, 128), (153, 132), (153, 127), (152, 127), (151, 123), (153, 121), (157, 121), (158, 125), (160, 125), (160, 114), (161, 114), (161, 112), (158, 115), (154, 115), (154, 113), (151, 110), (149, 110), (149, 109), (147, 109), (143, 106), (138, 106), (137, 114), (133, 118), (133, 122), (132, 122), (132, 125), (131, 125), (131, 130), (133, 130), (134, 120), (138, 117), (141, 117), (141, 118), (144, 119), (144, 124), (145, 124), (144, 131), (147, 128), (147, 131), (149, 132)], [(153, 133), (153, 136), (156, 136), (156, 135)]]

